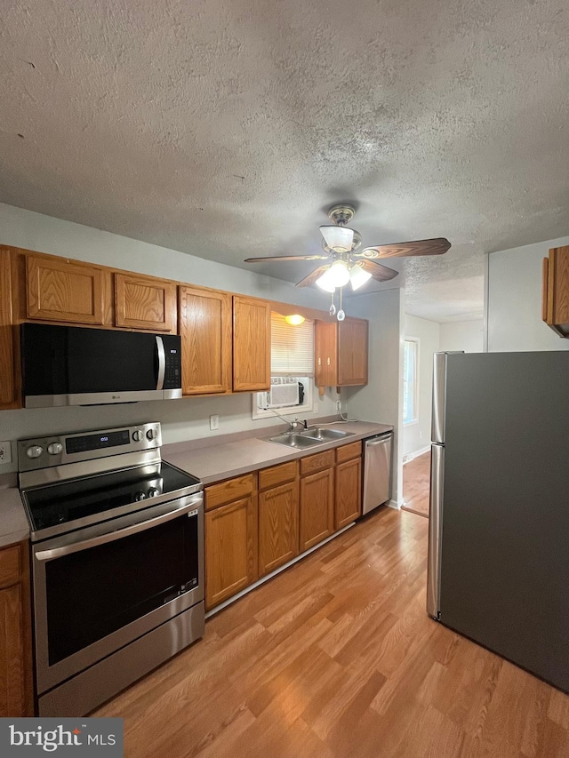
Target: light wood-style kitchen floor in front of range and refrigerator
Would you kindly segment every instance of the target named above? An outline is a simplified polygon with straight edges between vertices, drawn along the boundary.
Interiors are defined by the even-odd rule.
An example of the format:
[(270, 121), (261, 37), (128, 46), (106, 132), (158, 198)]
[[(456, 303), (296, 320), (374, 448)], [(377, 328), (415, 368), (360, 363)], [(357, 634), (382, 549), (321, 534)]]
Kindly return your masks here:
[(427, 617), (428, 527), (374, 511), (93, 715), (129, 758), (566, 758), (569, 697)]

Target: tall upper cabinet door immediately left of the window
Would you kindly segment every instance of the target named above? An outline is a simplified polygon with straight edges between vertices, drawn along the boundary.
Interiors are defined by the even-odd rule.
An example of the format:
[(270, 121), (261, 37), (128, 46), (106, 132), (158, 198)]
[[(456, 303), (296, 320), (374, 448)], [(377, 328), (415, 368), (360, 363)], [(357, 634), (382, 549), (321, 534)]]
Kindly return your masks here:
[(270, 305), (264, 300), (233, 298), (233, 389), (270, 388)]

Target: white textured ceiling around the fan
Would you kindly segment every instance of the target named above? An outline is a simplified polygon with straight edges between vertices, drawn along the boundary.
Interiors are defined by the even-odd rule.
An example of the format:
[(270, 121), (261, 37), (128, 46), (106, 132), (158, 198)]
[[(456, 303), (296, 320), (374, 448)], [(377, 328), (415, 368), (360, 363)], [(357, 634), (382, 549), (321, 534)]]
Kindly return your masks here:
[(440, 321), (483, 253), (569, 233), (566, 0), (2, 5), (5, 203), (247, 267), (351, 200), (367, 245), (453, 243), (390, 283)]

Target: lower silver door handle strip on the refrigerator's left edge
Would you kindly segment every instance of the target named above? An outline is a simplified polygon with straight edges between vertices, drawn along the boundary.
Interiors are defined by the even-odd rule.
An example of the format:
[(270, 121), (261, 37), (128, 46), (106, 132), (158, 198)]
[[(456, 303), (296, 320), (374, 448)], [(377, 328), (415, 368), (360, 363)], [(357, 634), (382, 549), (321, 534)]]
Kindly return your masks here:
[(427, 613), (440, 615), (441, 535), (443, 526), (443, 481), (445, 447), (431, 445), (429, 493), (429, 563), (427, 568)]

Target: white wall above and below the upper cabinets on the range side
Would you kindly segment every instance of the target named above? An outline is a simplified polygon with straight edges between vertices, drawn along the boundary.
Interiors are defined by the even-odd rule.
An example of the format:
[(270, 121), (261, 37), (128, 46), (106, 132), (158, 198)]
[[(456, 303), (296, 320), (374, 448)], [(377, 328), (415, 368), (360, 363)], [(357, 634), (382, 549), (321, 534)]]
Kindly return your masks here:
[[(328, 296), (324, 293), (297, 289), (291, 283), (268, 276), (2, 203), (0, 243), (295, 305), (328, 309)], [(335, 414), (335, 400), (334, 390), (327, 390), (324, 397), (318, 397), (317, 415)], [(260, 429), (262, 432), (263, 427), (278, 423), (278, 419), (252, 421), (251, 410), (251, 393), (244, 393), (91, 408), (0, 411), (0, 440), (14, 441), (33, 435), (160, 421), (164, 443), (174, 443), (246, 429)], [(220, 429), (216, 432), (211, 432), (209, 428), (212, 413), (220, 416)], [(12, 442), (12, 464), (0, 466), (0, 473), (15, 470), (14, 452)]]

